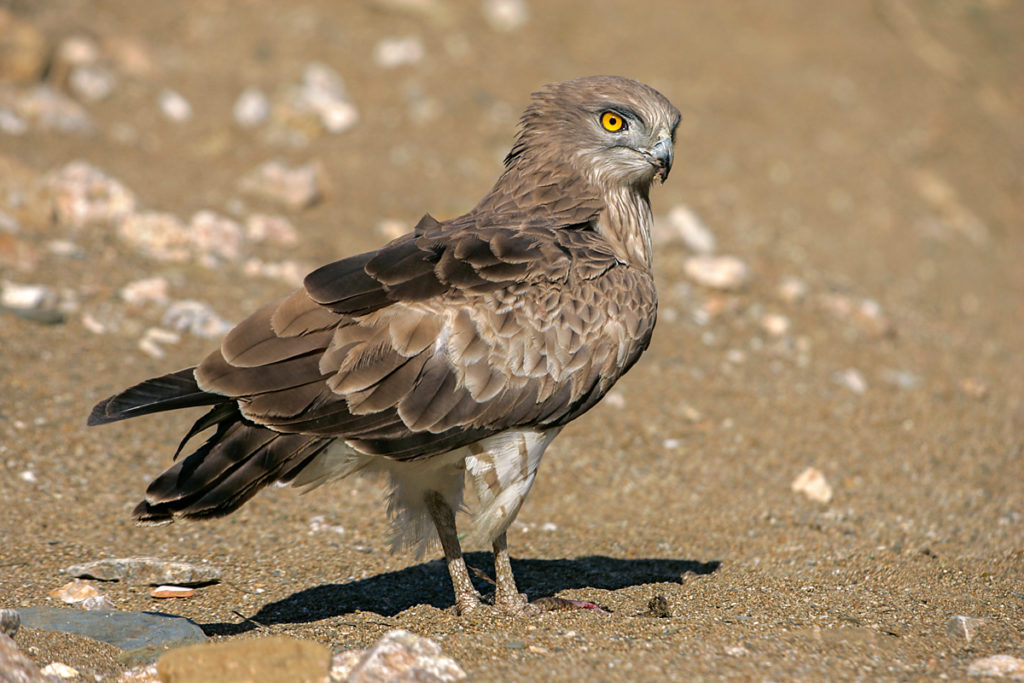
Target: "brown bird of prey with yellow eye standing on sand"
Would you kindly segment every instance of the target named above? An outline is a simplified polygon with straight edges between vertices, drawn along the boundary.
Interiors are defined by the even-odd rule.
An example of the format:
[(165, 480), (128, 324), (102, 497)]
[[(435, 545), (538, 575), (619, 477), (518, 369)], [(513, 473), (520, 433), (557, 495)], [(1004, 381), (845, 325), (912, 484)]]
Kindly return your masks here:
[(468, 480), (469, 539), (494, 549), (494, 605), (524, 611), (506, 530), (551, 440), (650, 341), (649, 189), (669, 175), (678, 123), (633, 80), (548, 85), (471, 211), (426, 214), (380, 249), (314, 270), (198, 366), (100, 401), (90, 425), (209, 409), (134, 518), (220, 517), (273, 482), (384, 474), (394, 546), (439, 541), (468, 613), (481, 605), (455, 522)]

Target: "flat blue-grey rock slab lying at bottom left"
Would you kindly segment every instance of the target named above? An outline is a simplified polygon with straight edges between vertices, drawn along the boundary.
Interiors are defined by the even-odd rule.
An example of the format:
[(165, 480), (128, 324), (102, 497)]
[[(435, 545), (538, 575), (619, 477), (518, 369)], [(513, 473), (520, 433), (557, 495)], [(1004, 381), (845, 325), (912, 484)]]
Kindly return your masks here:
[(122, 612), (61, 607), (22, 607), (22, 626), (40, 631), (74, 633), (125, 650), (126, 664), (152, 660), (164, 650), (206, 642), (199, 625), (161, 612)]

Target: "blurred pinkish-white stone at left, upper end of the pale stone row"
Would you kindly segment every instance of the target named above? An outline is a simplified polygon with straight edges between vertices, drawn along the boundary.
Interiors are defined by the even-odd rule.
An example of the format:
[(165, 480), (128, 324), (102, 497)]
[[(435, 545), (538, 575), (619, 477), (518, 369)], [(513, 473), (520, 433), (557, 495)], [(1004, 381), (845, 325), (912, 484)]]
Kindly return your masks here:
[(74, 161), (48, 174), (52, 211), (58, 225), (74, 228), (115, 223), (135, 210), (135, 196), (95, 166)]

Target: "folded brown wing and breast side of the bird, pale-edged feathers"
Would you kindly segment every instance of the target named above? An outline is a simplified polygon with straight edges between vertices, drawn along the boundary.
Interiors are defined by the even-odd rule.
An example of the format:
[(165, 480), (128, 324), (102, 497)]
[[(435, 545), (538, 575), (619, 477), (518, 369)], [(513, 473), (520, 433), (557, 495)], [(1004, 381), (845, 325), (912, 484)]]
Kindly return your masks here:
[(650, 273), (587, 229), (465, 222), (425, 216), (313, 271), (228, 334), (200, 386), (275, 431), (399, 460), (582, 415), (646, 348)]

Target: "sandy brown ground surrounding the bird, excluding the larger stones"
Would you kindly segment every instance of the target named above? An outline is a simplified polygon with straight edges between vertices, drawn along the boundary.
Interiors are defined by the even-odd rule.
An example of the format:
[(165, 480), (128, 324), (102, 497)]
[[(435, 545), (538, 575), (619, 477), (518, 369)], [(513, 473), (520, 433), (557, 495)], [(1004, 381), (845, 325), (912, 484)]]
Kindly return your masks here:
[[(1024, 657), (1024, 4), (531, 2), (510, 31), (454, 0), (7, 6), (51, 45), (86, 35), (121, 56), (113, 93), (85, 103), (93, 133), (0, 133), (0, 210), (38, 257), (0, 262), (2, 279), (79, 298), (61, 325), (0, 315), (0, 607), (54, 604), (63, 567), (138, 554), (209, 560), (225, 581), (173, 602), (100, 585), (119, 609), (334, 649), (403, 628), (474, 680), (958, 679), (983, 656)], [(415, 63), (374, 59), (410, 36)], [(345, 79), (357, 125), (303, 146), (234, 123), (244, 88), (273, 93), (310, 61)], [(146, 258), (112, 227), (12, 206), (12, 188), (81, 159), (141, 209), (244, 217), (258, 202), (240, 202), (241, 176), (314, 161), (324, 201), (285, 212), (298, 244), (261, 248), (312, 266), (381, 244), (384, 219), (471, 207), (528, 93), (595, 73), (683, 112), (655, 215), (685, 204), (750, 269), (716, 292), (687, 279), (678, 240), (659, 246), (652, 347), (548, 451), (510, 531), (521, 590), (613, 613), (455, 616), (439, 561), (385, 552), (370, 481), (266, 490), (215, 523), (131, 523), (191, 416), (87, 429), (86, 415), (215, 340), (143, 353), (161, 311), (119, 290), (163, 276), (172, 298), (238, 321), (290, 286)], [(190, 120), (161, 114), (164, 88)], [(104, 311), (118, 332), (83, 323)], [(830, 502), (791, 489), (808, 467)], [(470, 564), (489, 570), (489, 555)], [(656, 596), (670, 615), (648, 613)], [(970, 642), (947, 635), (954, 615), (984, 620)], [(124, 668), (86, 639), (16, 640), (40, 665)]]

